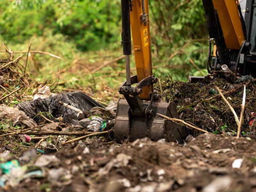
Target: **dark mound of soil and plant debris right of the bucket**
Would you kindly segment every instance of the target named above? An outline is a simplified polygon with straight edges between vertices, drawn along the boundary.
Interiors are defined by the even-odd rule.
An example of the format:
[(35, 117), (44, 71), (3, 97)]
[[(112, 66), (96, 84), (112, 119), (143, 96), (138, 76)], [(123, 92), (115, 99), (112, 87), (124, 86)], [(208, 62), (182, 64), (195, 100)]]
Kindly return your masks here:
[[(204, 130), (212, 133), (229, 132), (235, 135), (237, 125), (232, 112), (222, 100), (216, 90), (218, 86), (240, 115), (243, 96), (243, 84), (236, 84), (225, 78), (208, 76), (202, 83), (186, 83), (175, 81), (172, 78), (161, 79), (161, 88), (158, 84), (155, 89), (163, 95), (164, 100), (173, 101), (177, 105), (179, 117)], [(242, 77), (241, 77), (242, 78)], [(239, 83), (239, 78), (236, 81)], [(242, 135), (255, 138), (255, 123), (250, 123), (256, 118), (256, 80), (247, 81), (246, 102)], [(190, 131), (192, 135), (200, 134)]]

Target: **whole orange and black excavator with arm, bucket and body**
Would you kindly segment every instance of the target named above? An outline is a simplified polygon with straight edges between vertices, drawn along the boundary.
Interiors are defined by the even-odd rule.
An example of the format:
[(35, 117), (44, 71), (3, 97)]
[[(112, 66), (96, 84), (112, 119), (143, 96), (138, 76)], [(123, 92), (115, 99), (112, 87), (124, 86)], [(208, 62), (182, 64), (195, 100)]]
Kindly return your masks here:
[[(223, 66), (241, 75), (256, 75), (256, 0), (202, 0), (209, 30), (207, 70)], [(182, 142), (186, 130), (178, 119), (176, 104), (165, 103), (153, 90), (148, 0), (121, 0), (122, 45), (126, 56), (126, 81), (119, 87), (114, 135), (118, 143), (147, 137)], [(131, 37), (137, 75), (130, 75)], [(212, 55), (213, 44), (213, 55)]]

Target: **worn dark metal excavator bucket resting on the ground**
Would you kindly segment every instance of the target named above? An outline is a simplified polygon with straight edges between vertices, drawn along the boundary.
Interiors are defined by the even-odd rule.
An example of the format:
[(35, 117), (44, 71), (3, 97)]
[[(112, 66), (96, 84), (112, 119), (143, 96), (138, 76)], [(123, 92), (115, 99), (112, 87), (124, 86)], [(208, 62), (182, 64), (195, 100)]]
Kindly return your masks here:
[[(134, 107), (134, 103), (139, 103), (136, 107), (140, 106), (142, 113), (139, 114), (139, 107)], [(149, 102), (142, 102), (136, 95), (131, 98), (126, 97), (126, 100), (120, 98), (114, 125), (116, 141), (122, 143), (127, 139), (134, 141), (148, 137), (152, 141), (164, 138), (168, 142), (183, 142), (186, 135), (185, 128), (178, 123), (163, 119), (157, 113), (170, 118), (179, 118), (176, 104), (161, 102), (156, 94), (151, 96)]]

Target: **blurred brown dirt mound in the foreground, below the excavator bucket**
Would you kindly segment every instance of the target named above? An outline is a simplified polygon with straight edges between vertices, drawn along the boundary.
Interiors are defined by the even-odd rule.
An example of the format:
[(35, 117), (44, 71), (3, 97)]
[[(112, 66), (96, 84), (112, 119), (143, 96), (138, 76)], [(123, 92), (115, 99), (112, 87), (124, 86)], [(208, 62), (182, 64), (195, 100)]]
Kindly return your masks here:
[[(203, 134), (185, 146), (140, 139), (110, 149), (68, 149), (55, 154), (58, 162), (45, 167), (43, 179), (23, 180), (11, 191), (255, 191), (255, 147), (245, 138)], [(51, 180), (51, 170), (60, 168), (66, 179)]]

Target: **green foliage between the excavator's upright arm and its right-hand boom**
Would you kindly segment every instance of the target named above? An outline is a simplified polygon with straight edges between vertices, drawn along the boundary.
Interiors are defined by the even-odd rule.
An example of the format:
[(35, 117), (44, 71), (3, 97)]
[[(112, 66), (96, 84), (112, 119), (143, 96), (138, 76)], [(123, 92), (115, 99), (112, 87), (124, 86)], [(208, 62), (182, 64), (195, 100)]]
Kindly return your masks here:
[[(207, 27), (202, 0), (149, 1), (153, 64), (164, 69), (154, 72), (157, 76), (187, 80), (187, 76), (202, 74), (190, 63), (190, 59), (207, 74)], [(152, 23), (151, 23), (152, 24)]]

